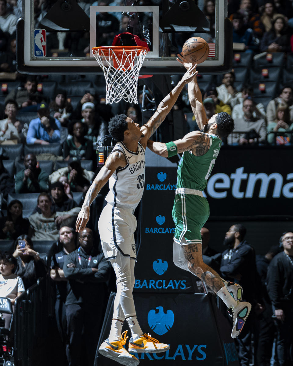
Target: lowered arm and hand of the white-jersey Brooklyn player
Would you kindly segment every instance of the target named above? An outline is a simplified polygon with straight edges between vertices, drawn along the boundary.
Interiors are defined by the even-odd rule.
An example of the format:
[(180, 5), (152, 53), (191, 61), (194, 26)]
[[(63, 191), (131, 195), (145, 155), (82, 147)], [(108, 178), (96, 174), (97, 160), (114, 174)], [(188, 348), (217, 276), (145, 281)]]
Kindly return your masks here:
[(84, 203), (76, 220), (75, 231), (81, 232), (84, 230), (89, 221), (89, 208), (93, 200), (97, 197), (99, 191), (108, 182), (115, 170), (125, 167), (126, 164), (126, 157), (122, 152), (115, 151), (108, 156), (105, 165), (101, 168), (85, 195)]

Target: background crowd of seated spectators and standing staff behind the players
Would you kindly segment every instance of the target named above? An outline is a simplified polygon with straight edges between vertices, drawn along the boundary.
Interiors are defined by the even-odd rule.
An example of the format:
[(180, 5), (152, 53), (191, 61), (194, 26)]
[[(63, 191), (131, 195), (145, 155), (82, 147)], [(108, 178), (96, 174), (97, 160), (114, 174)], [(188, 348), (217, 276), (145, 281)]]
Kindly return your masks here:
[[(79, 1), (78, 4), (89, 17), (90, 5), (121, 3), (108, 4), (100, 0), (93, 4)], [(146, 4), (147, 1), (140, 2), (140, 5)], [(215, 0), (199, 0), (197, 5), (210, 22), (209, 33), (204, 38), (213, 42)], [(117, 111), (142, 124), (142, 93), (138, 92), (138, 105), (120, 103), (111, 109), (103, 104), (103, 82), (96, 89), (92, 83), (82, 94), (80, 91), (69, 94), (67, 86), (57, 82), (54, 90), (48, 92), (46, 75), (19, 74), (16, 71), (15, 27), (21, 16), (21, 6), (21, 0), (0, 0), (0, 79), (8, 85), (8, 90), (1, 88), (0, 96), (0, 144), (3, 144), (3, 147), (0, 145), (0, 251), (1, 240), (14, 241), (10, 254), (0, 253), (0, 296), (10, 298), (13, 304), (39, 277), (49, 273), (56, 285), (56, 325), (68, 365), (92, 365), (107, 303), (106, 283), (110, 277), (109, 265), (99, 248), (94, 246), (99, 242), (95, 221), (103, 208), (103, 193), (91, 206), (88, 227), (79, 235), (73, 227), (82, 198), (97, 174), (96, 142), (107, 135), (107, 122)], [(41, 27), (42, 19), (52, 8), (50, 1), (34, 1), (35, 27)], [(274, 58), (276, 52), (293, 52), (291, 1), (232, 0), (228, 13), (233, 23), (233, 42), (241, 48), (236, 51), (238, 58), (247, 53), (261, 56), (263, 52), (267, 58)], [(148, 19), (144, 21), (147, 23)], [(97, 39), (107, 45), (115, 34), (126, 30), (128, 18), (120, 13), (98, 12), (96, 24)], [(192, 33), (184, 33), (185, 39), (190, 36)], [(174, 37), (174, 40), (178, 42), (178, 38)], [(89, 56), (87, 33), (82, 36), (51, 33), (47, 42), (48, 49), (69, 49), (76, 56)], [(180, 51), (180, 45), (176, 46)], [(198, 76), (207, 116), (227, 112), (234, 119), (234, 133), (224, 143), (292, 144), (292, 84), (270, 80), (275, 83), (277, 92), (270, 94), (266, 101), (259, 101), (254, 97), (255, 90), (248, 79), (237, 79), (235, 75), (237, 72), (231, 71), (213, 76), (208, 85), (201, 83)], [(18, 85), (9, 87), (11, 80), (19, 82)], [(78, 88), (78, 80), (76, 86)], [(151, 93), (151, 90), (147, 91), (149, 96)], [(186, 114), (191, 112), (183, 97), (177, 108), (178, 105)], [(193, 128), (197, 128), (195, 122)], [(5, 152), (5, 146), (17, 144), (32, 146), (32, 150), (14, 158), (16, 171), (11, 171), (6, 165), (11, 157)], [(56, 146), (56, 149), (45, 150), (50, 146)], [(49, 162), (51, 168), (44, 164)], [(26, 199), (31, 201), (28, 206), (27, 194), (31, 194)], [(292, 324), (293, 317), (293, 233), (283, 233), (280, 246), (271, 248), (265, 256), (255, 256), (253, 247), (244, 239), (242, 225), (233, 225), (227, 231), (225, 244), (228, 249), (222, 254), (209, 247), (207, 229), (203, 229), (202, 236), (204, 260), (215, 266), (226, 280), (240, 283), (244, 299), (253, 305), (248, 323), (236, 340), (241, 366), (249, 365), (252, 339), (258, 365), (269, 365), (274, 337), (275, 359), (280, 366), (287, 365), (290, 338), (286, 335), (290, 334), (288, 325)], [(56, 242), (57, 249), (48, 268), (40, 253), (34, 250), (34, 244), (50, 240)], [(6, 325), (9, 321), (9, 317), (5, 318)]]

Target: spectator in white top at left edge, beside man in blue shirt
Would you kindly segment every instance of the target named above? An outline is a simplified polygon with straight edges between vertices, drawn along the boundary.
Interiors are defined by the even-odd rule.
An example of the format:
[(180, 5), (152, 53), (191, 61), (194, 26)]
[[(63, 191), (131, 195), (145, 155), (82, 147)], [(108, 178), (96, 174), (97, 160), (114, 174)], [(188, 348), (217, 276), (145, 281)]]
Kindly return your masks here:
[(0, 143), (9, 140), (17, 140), (19, 142), (20, 138), (15, 124), (18, 126), (20, 122), (16, 120), (17, 104), (13, 99), (5, 102), (4, 113), (7, 118), (0, 121)]

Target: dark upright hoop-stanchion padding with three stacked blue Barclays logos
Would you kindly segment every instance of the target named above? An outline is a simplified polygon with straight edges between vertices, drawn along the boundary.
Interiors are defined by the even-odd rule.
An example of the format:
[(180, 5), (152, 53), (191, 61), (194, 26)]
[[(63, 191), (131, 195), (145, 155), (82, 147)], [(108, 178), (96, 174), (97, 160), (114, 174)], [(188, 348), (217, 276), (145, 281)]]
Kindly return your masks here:
[[(141, 245), (137, 248), (133, 291), (194, 293), (196, 278), (173, 263), (171, 212), (177, 164), (158, 158), (152, 159), (152, 166), (146, 168), (147, 180), (141, 201)], [(165, 166), (158, 166), (160, 164)]]

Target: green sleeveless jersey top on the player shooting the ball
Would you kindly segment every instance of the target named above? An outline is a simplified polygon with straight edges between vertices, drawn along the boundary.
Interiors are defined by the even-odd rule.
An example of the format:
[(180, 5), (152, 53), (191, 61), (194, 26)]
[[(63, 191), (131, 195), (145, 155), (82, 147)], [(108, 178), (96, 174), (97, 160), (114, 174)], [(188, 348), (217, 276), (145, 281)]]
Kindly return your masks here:
[(177, 170), (177, 188), (203, 191), (207, 179), (215, 165), (222, 141), (216, 135), (208, 135), (211, 140), (209, 150), (203, 156), (195, 156), (191, 150), (185, 151)]

